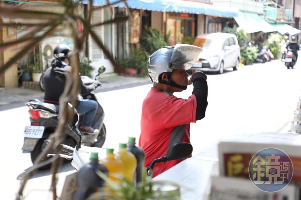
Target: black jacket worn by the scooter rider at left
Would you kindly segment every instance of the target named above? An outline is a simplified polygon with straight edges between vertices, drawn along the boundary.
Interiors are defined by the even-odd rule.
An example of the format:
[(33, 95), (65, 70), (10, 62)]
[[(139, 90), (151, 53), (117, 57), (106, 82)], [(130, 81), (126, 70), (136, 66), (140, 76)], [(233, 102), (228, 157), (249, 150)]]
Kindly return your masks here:
[[(44, 102), (59, 104), (59, 98), (64, 92), (66, 76), (69, 72), (71, 72), (71, 67), (69, 65), (63, 65), (61, 62), (51, 63), (51, 67), (48, 68), (44, 74)], [(82, 95), (88, 94), (98, 87), (98, 81), (86, 86), (82, 83), (81, 78), (79, 78), (79, 80)]]

